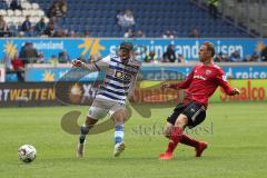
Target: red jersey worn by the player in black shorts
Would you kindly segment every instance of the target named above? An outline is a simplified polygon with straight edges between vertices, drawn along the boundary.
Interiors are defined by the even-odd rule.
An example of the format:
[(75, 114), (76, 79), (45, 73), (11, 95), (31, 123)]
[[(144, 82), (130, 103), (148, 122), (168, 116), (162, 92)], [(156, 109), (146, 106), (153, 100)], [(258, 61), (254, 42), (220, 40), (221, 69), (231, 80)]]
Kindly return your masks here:
[(227, 95), (234, 95), (233, 88), (228, 85), (224, 77), (224, 71), (216, 65), (205, 66), (197, 65), (187, 79), (180, 83), (174, 83), (170, 87), (175, 89), (186, 89), (184, 102), (197, 101), (208, 106), (208, 99), (218, 86), (220, 86)]

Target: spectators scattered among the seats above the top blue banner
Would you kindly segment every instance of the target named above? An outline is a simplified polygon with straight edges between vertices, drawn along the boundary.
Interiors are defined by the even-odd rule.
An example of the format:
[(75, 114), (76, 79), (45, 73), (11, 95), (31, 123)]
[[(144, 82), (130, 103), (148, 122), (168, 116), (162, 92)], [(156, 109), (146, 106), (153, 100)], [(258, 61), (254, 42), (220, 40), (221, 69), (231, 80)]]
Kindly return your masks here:
[[(22, 10), (21, 0), (4, 0), (7, 1), (7, 10)], [(216, 18), (217, 10), (214, 3), (209, 4), (210, 16)], [(46, 16), (46, 17), (44, 17)], [(66, 0), (55, 0), (42, 18), (36, 23), (32, 22), (30, 14), (26, 16), (19, 27), (8, 26), (3, 16), (0, 14), (0, 37), (91, 37), (90, 31), (76, 31), (75, 29), (66, 29), (61, 27), (61, 21), (68, 16), (68, 3)], [(48, 17), (48, 18), (47, 18)], [(135, 16), (130, 9), (119, 10), (116, 17), (117, 26), (121, 28), (123, 38), (146, 38), (146, 32), (138, 28)], [(178, 38), (176, 30), (166, 29), (159, 38), (174, 39)], [(201, 32), (197, 27), (191, 27), (187, 32), (187, 37), (201, 38)]]

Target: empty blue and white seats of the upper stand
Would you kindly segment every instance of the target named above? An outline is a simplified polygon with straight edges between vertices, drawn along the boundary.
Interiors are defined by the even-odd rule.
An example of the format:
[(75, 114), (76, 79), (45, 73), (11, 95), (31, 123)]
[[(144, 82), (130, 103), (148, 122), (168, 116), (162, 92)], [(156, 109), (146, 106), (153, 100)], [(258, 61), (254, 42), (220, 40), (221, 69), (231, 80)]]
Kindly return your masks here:
[[(23, 10), (6, 10), (0, 2), (0, 14), (10, 29), (19, 30), (27, 14), (37, 23), (48, 11), (53, 0), (22, 0)], [(222, 18), (210, 18), (207, 9), (185, 0), (68, 0), (66, 18), (58, 21), (62, 29), (78, 33), (89, 30), (92, 37), (123, 37), (125, 31), (117, 24), (119, 10), (130, 9), (134, 13), (135, 30), (142, 30), (146, 37), (161, 37), (166, 30), (175, 31), (175, 37), (188, 37), (192, 28), (200, 37), (250, 37)], [(46, 21), (48, 18), (46, 17)]]

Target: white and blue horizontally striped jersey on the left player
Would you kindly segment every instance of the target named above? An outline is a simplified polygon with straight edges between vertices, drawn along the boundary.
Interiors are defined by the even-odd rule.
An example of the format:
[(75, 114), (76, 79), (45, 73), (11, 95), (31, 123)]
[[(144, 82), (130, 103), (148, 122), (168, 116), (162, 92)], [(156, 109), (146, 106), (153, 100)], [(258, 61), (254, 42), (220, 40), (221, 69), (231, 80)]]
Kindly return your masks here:
[(135, 90), (137, 73), (141, 62), (129, 59), (123, 63), (118, 56), (107, 56), (95, 63), (97, 70), (105, 70), (105, 79), (96, 98), (125, 103), (128, 93)]

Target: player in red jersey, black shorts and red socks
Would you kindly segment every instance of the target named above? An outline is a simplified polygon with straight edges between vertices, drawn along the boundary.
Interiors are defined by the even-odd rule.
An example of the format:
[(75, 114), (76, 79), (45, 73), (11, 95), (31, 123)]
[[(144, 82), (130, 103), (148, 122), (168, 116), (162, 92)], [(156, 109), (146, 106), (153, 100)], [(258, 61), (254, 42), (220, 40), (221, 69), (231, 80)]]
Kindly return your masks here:
[(208, 99), (218, 86), (229, 96), (240, 93), (237, 88), (233, 89), (228, 85), (224, 71), (214, 63), (215, 46), (211, 42), (204, 42), (198, 55), (201, 65), (197, 65), (185, 81), (161, 83), (162, 89), (186, 89), (186, 95), (182, 102), (174, 109), (174, 112), (167, 119), (165, 136), (170, 141), (166, 152), (160, 154), (159, 159), (171, 159), (179, 142), (194, 147), (196, 157), (200, 157), (208, 144), (190, 138), (184, 134), (184, 129), (186, 127), (194, 128), (205, 120)]

